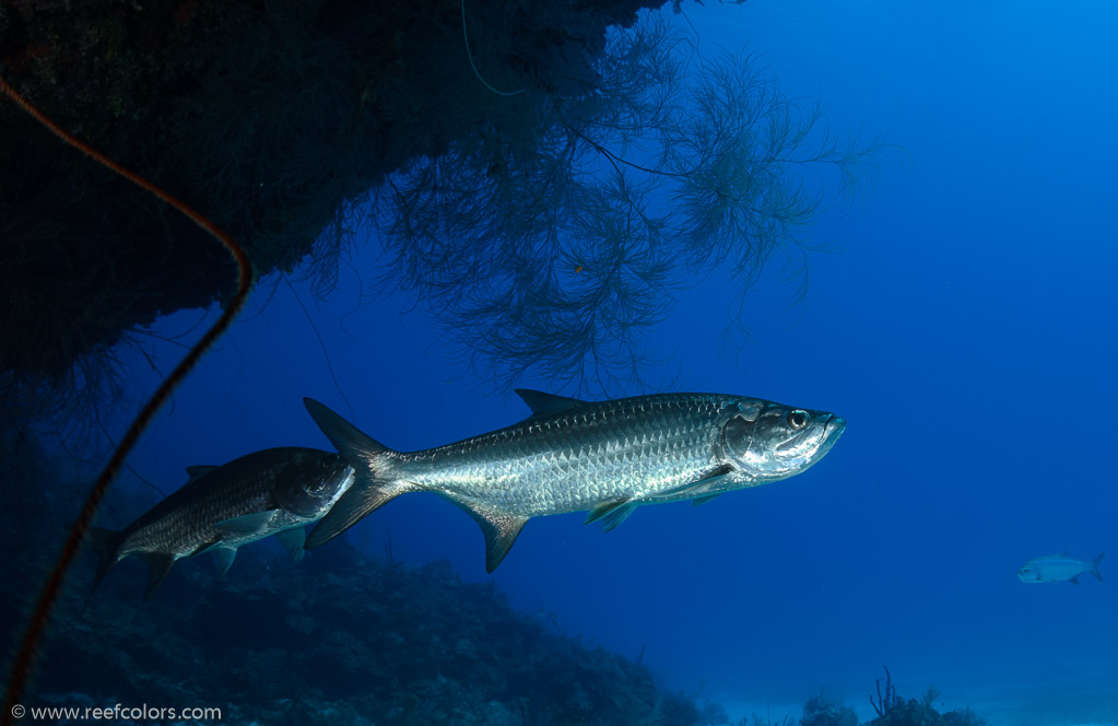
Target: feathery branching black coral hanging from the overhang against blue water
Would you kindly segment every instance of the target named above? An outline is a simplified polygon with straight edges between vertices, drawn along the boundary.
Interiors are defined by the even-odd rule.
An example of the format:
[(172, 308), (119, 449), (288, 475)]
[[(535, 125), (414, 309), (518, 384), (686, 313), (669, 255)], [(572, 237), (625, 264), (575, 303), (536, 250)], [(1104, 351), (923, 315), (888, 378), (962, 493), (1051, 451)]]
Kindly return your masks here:
[(775, 257), (805, 281), (813, 223), (884, 148), (834, 139), (756, 58), (683, 47), (656, 20), (613, 32), (593, 84), (504, 100), (533, 123), (489, 124), (373, 190), (381, 289), (494, 387), (531, 370), (608, 389), (651, 362), (680, 291), (723, 272), (740, 301)]

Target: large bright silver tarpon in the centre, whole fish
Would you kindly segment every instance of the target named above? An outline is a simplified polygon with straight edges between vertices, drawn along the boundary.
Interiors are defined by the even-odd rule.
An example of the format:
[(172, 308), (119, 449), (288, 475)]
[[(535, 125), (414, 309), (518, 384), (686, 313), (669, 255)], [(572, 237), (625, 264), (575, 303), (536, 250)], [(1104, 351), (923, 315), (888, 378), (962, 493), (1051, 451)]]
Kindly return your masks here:
[(691, 499), (786, 479), (823, 459), (846, 422), (823, 411), (723, 394), (657, 394), (585, 402), (517, 392), (524, 421), (457, 443), (388, 449), (310, 398), (303, 403), (357, 483), (311, 531), (337, 537), (390, 499), (433, 491), (465, 509), (485, 536), (493, 572), (532, 517), (589, 510), (603, 529), (641, 505)]

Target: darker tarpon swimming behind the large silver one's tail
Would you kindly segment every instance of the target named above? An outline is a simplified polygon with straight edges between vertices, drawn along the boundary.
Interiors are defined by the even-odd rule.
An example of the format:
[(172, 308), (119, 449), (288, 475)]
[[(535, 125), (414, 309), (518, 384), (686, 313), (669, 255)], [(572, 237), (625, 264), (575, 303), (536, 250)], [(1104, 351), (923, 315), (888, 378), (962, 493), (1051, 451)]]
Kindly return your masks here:
[(237, 547), (275, 535), (293, 557), (303, 527), (329, 511), (353, 483), (353, 468), (318, 449), (266, 449), (221, 466), (190, 466), (190, 480), (121, 531), (94, 527), (101, 562), (94, 586), (113, 565), (136, 555), (148, 565), (146, 601), (174, 560), (212, 553), (225, 574)]

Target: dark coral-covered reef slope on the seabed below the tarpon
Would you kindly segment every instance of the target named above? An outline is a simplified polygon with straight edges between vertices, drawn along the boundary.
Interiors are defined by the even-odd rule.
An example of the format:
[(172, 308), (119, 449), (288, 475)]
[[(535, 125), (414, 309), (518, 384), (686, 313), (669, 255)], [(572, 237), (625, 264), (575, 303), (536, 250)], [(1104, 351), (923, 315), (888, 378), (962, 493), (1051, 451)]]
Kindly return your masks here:
[[(3, 443), (0, 622), (18, 624), (74, 505), (41, 452)], [(262, 543), (225, 578), (206, 556), (180, 563), (146, 604), (144, 568), (125, 560), (86, 605), (93, 565), (87, 555), (75, 572), (28, 706), (217, 707), (224, 723), (309, 726), (700, 723), (647, 668), (514, 611), (445, 564), (370, 559), (344, 540), (292, 564)], [(17, 632), (6, 629), (6, 653)]]

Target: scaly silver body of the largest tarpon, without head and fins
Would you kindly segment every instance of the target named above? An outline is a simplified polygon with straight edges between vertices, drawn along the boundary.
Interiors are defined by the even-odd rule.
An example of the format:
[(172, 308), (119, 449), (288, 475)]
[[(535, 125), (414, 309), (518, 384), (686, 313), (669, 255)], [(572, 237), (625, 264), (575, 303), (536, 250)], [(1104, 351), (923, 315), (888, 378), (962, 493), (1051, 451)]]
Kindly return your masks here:
[(392, 452), (378, 475), (523, 517), (647, 500), (721, 465), (721, 428), (739, 400), (659, 394), (586, 403), (453, 444)]

